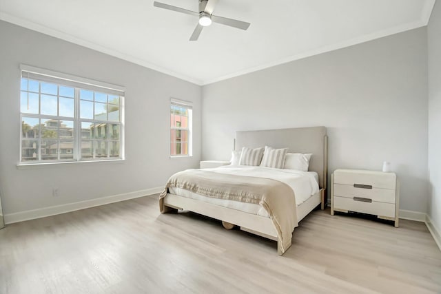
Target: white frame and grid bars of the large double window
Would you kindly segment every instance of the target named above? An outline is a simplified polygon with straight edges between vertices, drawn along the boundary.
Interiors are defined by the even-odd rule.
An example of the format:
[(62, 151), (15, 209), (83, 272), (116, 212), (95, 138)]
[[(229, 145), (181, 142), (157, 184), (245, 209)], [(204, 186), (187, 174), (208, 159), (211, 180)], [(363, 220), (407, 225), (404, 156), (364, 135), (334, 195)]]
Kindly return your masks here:
[[(38, 81), (39, 82), (39, 113), (38, 114), (32, 114), (32, 113), (26, 113), (21, 111), (21, 87), (20, 87), (20, 95), (19, 95), (19, 101), (20, 101), (20, 107), (19, 107), (19, 114), (20, 114), (20, 132), (19, 132), (19, 162), (17, 166), (23, 166), (23, 165), (47, 165), (47, 164), (62, 164), (62, 163), (73, 163), (73, 162), (103, 162), (103, 161), (115, 161), (115, 160), (125, 160), (125, 140), (124, 140), (124, 100), (125, 100), (125, 87), (121, 87), (119, 85), (111, 85), (108, 83), (104, 83), (101, 81), (95, 81), (90, 78), (83, 78), (80, 76), (73, 76), (70, 74), (63, 74), (61, 72), (54, 72), (52, 70), (45, 70), (38, 67), (32, 67), (29, 65), (20, 65), (20, 81), (22, 78), (28, 79), (28, 82), (30, 80)], [(41, 114), (41, 83), (52, 83), (57, 85), (57, 95), (54, 94), (54, 96), (57, 97), (57, 115), (47, 115), (47, 114)], [(21, 83), (20, 83), (21, 84)], [(60, 116), (59, 114), (59, 107), (60, 107), (60, 97), (63, 98), (63, 95), (60, 95), (59, 87), (72, 87), (74, 89), (74, 96), (73, 96), (73, 107), (74, 107), (74, 116), (68, 117), (68, 116)], [(91, 92), (100, 92), (107, 95), (107, 103), (105, 103), (106, 107), (106, 114), (107, 119), (106, 120), (100, 120), (95, 119), (95, 115), (92, 114), (92, 119), (90, 118), (81, 118), (80, 116), (80, 91), (81, 90), (87, 90)], [(30, 93), (29, 88), (26, 91)], [(107, 109), (109, 105), (112, 106), (114, 103), (109, 103), (108, 96), (118, 96), (119, 97), (119, 120), (114, 121), (110, 120), (108, 117)], [(95, 103), (95, 101), (92, 101), (92, 103)], [(116, 104), (115, 104), (116, 105)], [(94, 108), (93, 108), (94, 109)], [(54, 141), (57, 141), (57, 150), (54, 155), (57, 155), (57, 159), (42, 159), (41, 156), (43, 155), (43, 151), (41, 150), (42, 143), (43, 143), (43, 136), (42, 136), (42, 129), (39, 127), (38, 129), (38, 136), (34, 137), (33, 140), (37, 140), (37, 144), (39, 145), (39, 148), (41, 151), (39, 151), (39, 154), (37, 154), (37, 160), (23, 160), (22, 158), (22, 152), (23, 152), (23, 118), (37, 118), (39, 119), (39, 125), (41, 125), (42, 120), (58, 120), (57, 125), (57, 138), (54, 138)], [(68, 138), (63, 140), (60, 136), (60, 127), (61, 123), (63, 121), (72, 121), (73, 123), (73, 132), (72, 132), (72, 138)], [(91, 143), (95, 142), (96, 140), (101, 140), (105, 142), (106, 146), (107, 144), (110, 144), (111, 142), (119, 141), (119, 156), (112, 157), (110, 152), (110, 147), (106, 149), (107, 156), (106, 157), (94, 157), (94, 143), (91, 144), (92, 149), (92, 158), (81, 158), (82, 154), (82, 123), (93, 123), (94, 125), (105, 123), (109, 126), (107, 128), (110, 128), (110, 125), (119, 125), (120, 134), (118, 140), (112, 140), (110, 138), (110, 132), (107, 134), (106, 138), (95, 138), (95, 136), (91, 136), (90, 138), (86, 139), (89, 140)], [(25, 139), (26, 140), (26, 139)], [(30, 139), (32, 140), (32, 139)], [(62, 158), (63, 154), (61, 151), (61, 144), (66, 143), (68, 141), (72, 141), (72, 150), (71, 152), (67, 152), (66, 154), (70, 155), (72, 154), (72, 158)], [(46, 151), (46, 150), (44, 150)], [(45, 152), (47, 153), (47, 152)]]

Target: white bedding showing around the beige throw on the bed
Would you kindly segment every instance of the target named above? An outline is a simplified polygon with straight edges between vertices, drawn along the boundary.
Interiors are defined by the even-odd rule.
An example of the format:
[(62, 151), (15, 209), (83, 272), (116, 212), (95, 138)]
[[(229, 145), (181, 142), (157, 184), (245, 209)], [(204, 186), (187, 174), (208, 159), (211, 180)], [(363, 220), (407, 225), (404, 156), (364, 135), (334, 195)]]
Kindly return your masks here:
[[(285, 182), (294, 190), (296, 205), (300, 205), (312, 195), (318, 193), (318, 174), (315, 171), (297, 171), (294, 169), (274, 169), (270, 167), (250, 167), (224, 165), (214, 169), (206, 169), (222, 174), (233, 174), (237, 176), (253, 176), (258, 178), (271, 178)], [(232, 200), (209, 198), (199, 194), (180, 189), (169, 188), (169, 192), (178, 196), (192, 198), (231, 209), (257, 214), (258, 216), (269, 217), (267, 211), (258, 204), (251, 204)]]

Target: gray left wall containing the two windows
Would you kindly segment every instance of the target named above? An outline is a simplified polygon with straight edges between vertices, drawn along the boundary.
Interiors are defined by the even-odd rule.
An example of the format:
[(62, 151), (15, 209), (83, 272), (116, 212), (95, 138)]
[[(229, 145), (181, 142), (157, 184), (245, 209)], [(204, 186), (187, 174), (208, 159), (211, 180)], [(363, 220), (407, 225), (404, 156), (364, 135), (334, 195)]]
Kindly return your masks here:
[[(0, 194), (5, 214), (161, 187), (201, 159), (201, 87), (79, 45), (0, 21)], [(17, 169), (19, 64), (123, 85), (125, 156)], [(170, 97), (194, 102), (194, 156), (169, 158)], [(52, 187), (59, 197), (52, 197)]]

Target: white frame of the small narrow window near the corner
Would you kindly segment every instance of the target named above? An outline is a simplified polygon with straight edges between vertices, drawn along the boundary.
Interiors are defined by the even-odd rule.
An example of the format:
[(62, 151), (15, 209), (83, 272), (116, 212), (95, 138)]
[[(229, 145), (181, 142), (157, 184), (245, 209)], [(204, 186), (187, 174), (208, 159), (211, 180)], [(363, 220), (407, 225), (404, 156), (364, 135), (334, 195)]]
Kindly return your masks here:
[[(172, 115), (172, 107), (185, 107), (187, 109), (187, 127), (174, 127), (172, 125), (170, 116)], [(180, 157), (192, 157), (193, 156), (193, 103), (190, 101), (184, 101), (181, 99), (171, 98), (170, 99), (170, 111), (169, 111), (169, 121), (170, 121), (170, 142), (169, 142), (169, 155), (170, 158), (180, 158)], [(172, 131), (187, 131), (187, 149), (188, 154), (172, 154)]]

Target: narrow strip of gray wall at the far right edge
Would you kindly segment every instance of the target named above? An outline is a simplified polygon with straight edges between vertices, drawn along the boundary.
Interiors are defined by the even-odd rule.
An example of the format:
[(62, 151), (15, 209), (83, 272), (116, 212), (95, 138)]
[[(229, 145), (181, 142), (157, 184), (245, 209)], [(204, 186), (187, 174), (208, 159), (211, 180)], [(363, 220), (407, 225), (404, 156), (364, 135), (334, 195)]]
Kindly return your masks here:
[(435, 2), (429, 43), (429, 216), (441, 234), (441, 3)]

